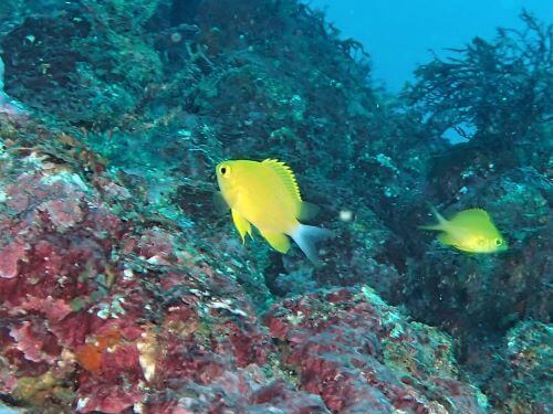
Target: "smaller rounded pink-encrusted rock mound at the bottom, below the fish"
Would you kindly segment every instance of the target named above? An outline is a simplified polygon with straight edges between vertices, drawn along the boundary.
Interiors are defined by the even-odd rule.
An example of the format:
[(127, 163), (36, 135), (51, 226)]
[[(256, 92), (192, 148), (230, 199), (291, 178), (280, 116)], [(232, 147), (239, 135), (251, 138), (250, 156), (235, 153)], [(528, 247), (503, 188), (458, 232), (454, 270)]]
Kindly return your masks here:
[(406, 322), (368, 288), (285, 300), (265, 322), (286, 349), (282, 364), (333, 412), (486, 412), (457, 378), (449, 339)]

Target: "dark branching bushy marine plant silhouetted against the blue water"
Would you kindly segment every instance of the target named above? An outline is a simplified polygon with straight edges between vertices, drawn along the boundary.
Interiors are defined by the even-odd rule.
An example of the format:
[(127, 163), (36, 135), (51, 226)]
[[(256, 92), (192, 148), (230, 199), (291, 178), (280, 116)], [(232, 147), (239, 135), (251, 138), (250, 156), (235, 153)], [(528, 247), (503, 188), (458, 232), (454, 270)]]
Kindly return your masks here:
[[(509, 168), (531, 159), (544, 166), (551, 153), (551, 142), (535, 145), (546, 144), (544, 129), (553, 121), (553, 24), (525, 11), (521, 19), (523, 30), (498, 29), (493, 41), (474, 38), (449, 49), (449, 56), (436, 54), (406, 91), (434, 135), (453, 128), (468, 140), (463, 157), (456, 149), (458, 159), (494, 155)], [(510, 157), (498, 153), (513, 145)]]

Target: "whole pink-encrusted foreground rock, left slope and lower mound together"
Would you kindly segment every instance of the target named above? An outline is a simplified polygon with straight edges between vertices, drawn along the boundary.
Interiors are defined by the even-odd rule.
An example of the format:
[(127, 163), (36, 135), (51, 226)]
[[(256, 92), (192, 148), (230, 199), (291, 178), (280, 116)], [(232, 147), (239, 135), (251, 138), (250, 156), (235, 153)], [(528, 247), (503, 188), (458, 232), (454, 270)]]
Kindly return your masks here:
[(4, 166), (0, 393), (79, 413), (483, 411), (444, 333), (368, 288), (262, 318), (233, 275), (100, 171), (39, 153)]

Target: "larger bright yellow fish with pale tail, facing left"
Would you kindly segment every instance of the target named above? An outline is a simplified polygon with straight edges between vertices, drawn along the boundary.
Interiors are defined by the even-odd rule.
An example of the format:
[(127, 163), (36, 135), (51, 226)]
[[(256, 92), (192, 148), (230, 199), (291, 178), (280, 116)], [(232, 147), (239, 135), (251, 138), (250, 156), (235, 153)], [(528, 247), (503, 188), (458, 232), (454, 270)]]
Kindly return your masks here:
[(242, 243), (253, 224), (278, 252), (290, 250), (290, 236), (311, 262), (319, 262), (315, 243), (332, 232), (300, 223), (314, 213), (314, 205), (302, 201), (290, 167), (273, 159), (229, 160), (220, 162), (216, 172)]

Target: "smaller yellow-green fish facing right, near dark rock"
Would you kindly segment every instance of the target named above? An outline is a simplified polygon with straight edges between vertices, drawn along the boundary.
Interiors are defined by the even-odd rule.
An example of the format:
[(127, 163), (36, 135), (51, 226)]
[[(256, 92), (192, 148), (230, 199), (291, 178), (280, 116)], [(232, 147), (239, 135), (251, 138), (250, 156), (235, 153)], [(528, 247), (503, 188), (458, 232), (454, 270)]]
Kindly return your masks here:
[(435, 225), (420, 229), (441, 232), (438, 240), (460, 251), (469, 253), (495, 253), (507, 251), (507, 242), (493, 224), (490, 215), (481, 209), (469, 209), (446, 220), (432, 208), (438, 220)]

